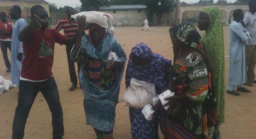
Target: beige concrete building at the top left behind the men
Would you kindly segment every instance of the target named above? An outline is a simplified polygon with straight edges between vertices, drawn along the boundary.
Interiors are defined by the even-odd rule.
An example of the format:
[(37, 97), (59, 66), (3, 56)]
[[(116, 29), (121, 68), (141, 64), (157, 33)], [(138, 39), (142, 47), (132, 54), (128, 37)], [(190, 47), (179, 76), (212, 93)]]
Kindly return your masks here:
[(30, 20), (30, 16), (31, 16), (30, 9), (34, 5), (42, 5), (50, 16), (49, 4), (44, 0), (0, 0), (0, 10), (1, 12), (6, 12), (8, 20), (10, 19), (10, 8), (13, 5), (20, 6), (22, 10), (21, 16), (27, 21)]

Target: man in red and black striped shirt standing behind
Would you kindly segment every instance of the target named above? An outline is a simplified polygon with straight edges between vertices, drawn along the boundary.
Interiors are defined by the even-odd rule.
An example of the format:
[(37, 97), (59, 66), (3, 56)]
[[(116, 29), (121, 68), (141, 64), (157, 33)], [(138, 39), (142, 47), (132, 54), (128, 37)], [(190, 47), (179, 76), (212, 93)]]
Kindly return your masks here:
[[(75, 9), (72, 7), (67, 7), (66, 14), (67, 14), (67, 17), (64, 19), (61, 19), (58, 22), (58, 24), (56, 25), (56, 27), (54, 27), (54, 29), (56, 29), (57, 31), (64, 29), (64, 35), (71, 38), (76, 34), (76, 32), (78, 30), (77, 29), (78, 23), (77, 23), (76, 19), (71, 17), (71, 15), (75, 15)], [(75, 62), (70, 58), (70, 51), (72, 48), (73, 48), (73, 46), (66, 46), (69, 75), (70, 75), (70, 81), (72, 82), (72, 86), (69, 88), (69, 91), (73, 91), (77, 87)], [(78, 76), (79, 76), (80, 66), (78, 63), (77, 63), (77, 67), (78, 67)], [(81, 87), (81, 85), (80, 85), (80, 87)]]

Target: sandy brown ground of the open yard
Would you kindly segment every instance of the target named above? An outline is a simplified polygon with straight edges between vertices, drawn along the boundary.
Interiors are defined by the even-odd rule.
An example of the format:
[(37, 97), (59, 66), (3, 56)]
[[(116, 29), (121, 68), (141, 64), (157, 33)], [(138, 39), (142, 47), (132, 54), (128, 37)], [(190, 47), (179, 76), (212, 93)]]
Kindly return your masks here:
[[(150, 27), (150, 31), (142, 31), (141, 27), (116, 27), (115, 37), (129, 56), (131, 48), (137, 43), (147, 44), (153, 52), (162, 54), (165, 58), (173, 59), (172, 44), (169, 36), (169, 27)], [(224, 26), (225, 55), (228, 56), (229, 34), (228, 26)], [(62, 32), (63, 33), (63, 32)], [(200, 32), (201, 34), (203, 32)], [(10, 54), (8, 52), (8, 54)], [(0, 52), (2, 57), (2, 53)], [(10, 56), (10, 55), (9, 55)], [(225, 84), (227, 85), (228, 58), (225, 58)], [(10, 79), (6, 74), (4, 60), (0, 58), (0, 75)], [(90, 126), (85, 124), (83, 107), (83, 94), (80, 88), (68, 91), (71, 86), (66, 58), (65, 46), (55, 45), (55, 57), (53, 64), (53, 75), (57, 82), (60, 100), (64, 112), (64, 139), (94, 139), (96, 135)], [(226, 123), (221, 125), (221, 137), (223, 139), (253, 139), (256, 138), (256, 89), (251, 93), (242, 93), (240, 96), (226, 94)], [(125, 91), (124, 78), (121, 83), (119, 98)], [(12, 134), (12, 123), (15, 108), (17, 106), (18, 88), (4, 92), (0, 96), (0, 138), (10, 139)], [(116, 107), (116, 123), (114, 127), (115, 139), (129, 139), (130, 121), (127, 107), (121, 102)], [(25, 128), (25, 139), (50, 139), (52, 138), (52, 118), (48, 105), (38, 93), (29, 113)], [(160, 130), (159, 130), (160, 131)], [(162, 139), (163, 136), (159, 132)]]

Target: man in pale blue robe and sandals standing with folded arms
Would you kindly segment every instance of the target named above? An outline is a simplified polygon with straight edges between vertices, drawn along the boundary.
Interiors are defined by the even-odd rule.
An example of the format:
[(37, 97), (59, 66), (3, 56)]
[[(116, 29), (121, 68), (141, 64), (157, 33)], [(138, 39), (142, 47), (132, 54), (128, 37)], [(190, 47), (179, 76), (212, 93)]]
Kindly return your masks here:
[[(230, 42), (227, 93), (238, 96), (240, 94), (237, 91), (251, 92), (243, 87), (243, 83), (245, 83), (245, 44), (249, 39), (249, 32), (239, 23), (244, 18), (243, 10), (234, 10), (233, 17), (234, 21), (232, 21), (229, 27)], [(238, 87), (237, 91), (234, 90), (235, 87)]]

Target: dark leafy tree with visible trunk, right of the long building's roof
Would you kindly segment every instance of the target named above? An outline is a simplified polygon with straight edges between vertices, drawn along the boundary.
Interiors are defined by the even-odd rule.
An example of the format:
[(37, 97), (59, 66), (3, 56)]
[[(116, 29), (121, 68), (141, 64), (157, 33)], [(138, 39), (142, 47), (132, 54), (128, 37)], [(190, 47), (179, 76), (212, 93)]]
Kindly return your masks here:
[(160, 25), (164, 13), (173, 11), (174, 3), (174, 0), (143, 0), (143, 4), (147, 6), (148, 12), (157, 15), (158, 25)]

